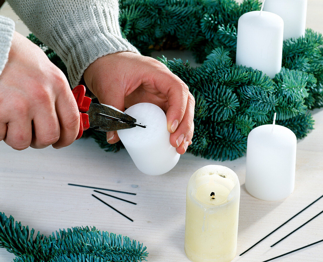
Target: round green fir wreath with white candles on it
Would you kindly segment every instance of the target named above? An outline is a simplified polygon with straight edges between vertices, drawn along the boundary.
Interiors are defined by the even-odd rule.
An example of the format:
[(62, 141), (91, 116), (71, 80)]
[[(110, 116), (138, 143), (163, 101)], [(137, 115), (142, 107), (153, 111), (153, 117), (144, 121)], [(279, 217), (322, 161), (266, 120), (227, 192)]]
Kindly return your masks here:
[[(237, 23), (241, 15), (260, 10), (258, 0), (121, 0), (122, 34), (140, 52), (188, 49), (200, 67), (188, 61), (160, 58), (189, 86), (196, 100), (195, 131), (189, 151), (207, 159), (234, 160), (246, 151), (247, 135), (272, 122), (303, 138), (313, 129), (309, 110), (323, 106), (323, 37), (307, 29), (305, 37), (283, 46), (283, 68), (274, 79), (235, 64)], [(29, 37), (40, 47), (44, 45)], [(65, 73), (57, 55), (48, 57)], [(107, 151), (118, 151), (104, 133), (87, 132)]]

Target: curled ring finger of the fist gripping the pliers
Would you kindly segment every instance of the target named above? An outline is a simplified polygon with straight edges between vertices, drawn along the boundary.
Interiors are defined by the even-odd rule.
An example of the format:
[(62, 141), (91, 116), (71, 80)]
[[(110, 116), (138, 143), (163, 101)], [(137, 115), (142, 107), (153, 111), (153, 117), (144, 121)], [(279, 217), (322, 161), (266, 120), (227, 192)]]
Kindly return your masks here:
[(10, 121), (7, 127), (5, 143), (16, 150), (23, 150), (29, 147), (32, 139), (31, 120), (21, 118)]

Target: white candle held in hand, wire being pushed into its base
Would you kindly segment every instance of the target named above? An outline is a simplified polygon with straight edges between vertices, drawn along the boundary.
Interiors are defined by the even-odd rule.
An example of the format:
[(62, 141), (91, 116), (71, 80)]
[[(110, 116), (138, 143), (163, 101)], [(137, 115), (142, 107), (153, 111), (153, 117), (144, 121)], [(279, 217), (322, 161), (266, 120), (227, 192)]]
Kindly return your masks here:
[(161, 175), (171, 170), (180, 154), (169, 141), (166, 115), (161, 108), (151, 103), (139, 103), (130, 106), (125, 113), (134, 117), (137, 124), (146, 126), (118, 131), (136, 167), (148, 175)]

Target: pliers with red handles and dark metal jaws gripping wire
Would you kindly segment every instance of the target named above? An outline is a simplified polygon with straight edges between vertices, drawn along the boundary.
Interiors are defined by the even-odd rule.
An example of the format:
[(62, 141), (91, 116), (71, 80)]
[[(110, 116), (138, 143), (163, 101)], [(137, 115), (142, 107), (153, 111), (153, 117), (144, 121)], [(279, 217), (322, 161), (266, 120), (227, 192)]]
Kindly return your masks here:
[(99, 131), (115, 131), (143, 125), (136, 124), (137, 120), (130, 115), (110, 105), (95, 104), (91, 98), (85, 96), (85, 86), (78, 85), (72, 90), (80, 112), (79, 139), (83, 131), (89, 127)]

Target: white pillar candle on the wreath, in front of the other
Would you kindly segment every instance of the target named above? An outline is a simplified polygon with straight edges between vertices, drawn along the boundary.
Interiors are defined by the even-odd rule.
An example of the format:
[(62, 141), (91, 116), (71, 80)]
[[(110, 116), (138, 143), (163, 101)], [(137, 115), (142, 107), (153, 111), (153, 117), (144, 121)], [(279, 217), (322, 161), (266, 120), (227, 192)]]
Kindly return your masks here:
[(274, 78), (282, 66), (284, 22), (266, 11), (245, 13), (238, 20), (236, 64)]

